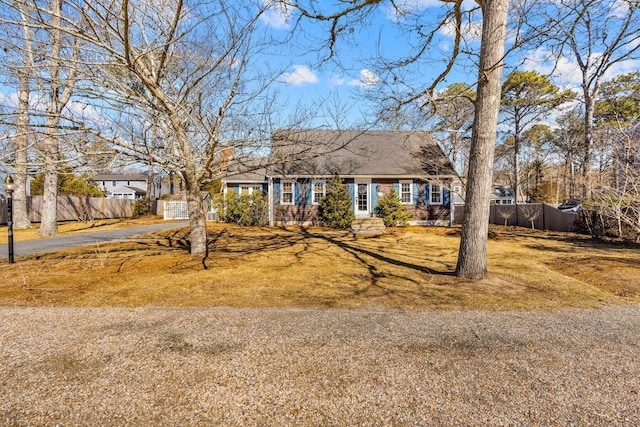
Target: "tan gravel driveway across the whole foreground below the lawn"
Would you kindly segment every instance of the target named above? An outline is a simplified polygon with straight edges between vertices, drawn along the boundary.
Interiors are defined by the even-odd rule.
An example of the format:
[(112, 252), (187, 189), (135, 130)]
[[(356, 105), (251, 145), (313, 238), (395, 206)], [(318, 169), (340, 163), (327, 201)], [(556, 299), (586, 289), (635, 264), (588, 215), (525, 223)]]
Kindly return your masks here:
[(0, 308), (0, 425), (640, 425), (640, 307)]

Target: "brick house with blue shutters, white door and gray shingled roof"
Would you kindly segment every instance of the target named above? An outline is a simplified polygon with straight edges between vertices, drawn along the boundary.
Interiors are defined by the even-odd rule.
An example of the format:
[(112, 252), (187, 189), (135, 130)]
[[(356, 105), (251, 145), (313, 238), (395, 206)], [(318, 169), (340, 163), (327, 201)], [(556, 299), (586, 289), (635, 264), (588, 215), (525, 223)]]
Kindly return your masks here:
[(336, 174), (356, 217), (373, 216), (378, 199), (394, 188), (411, 224), (452, 224), (453, 167), (426, 132), (282, 131), (273, 147), (265, 162), (272, 166), (222, 180), (225, 192), (266, 193), (272, 225), (318, 223), (320, 200)]

